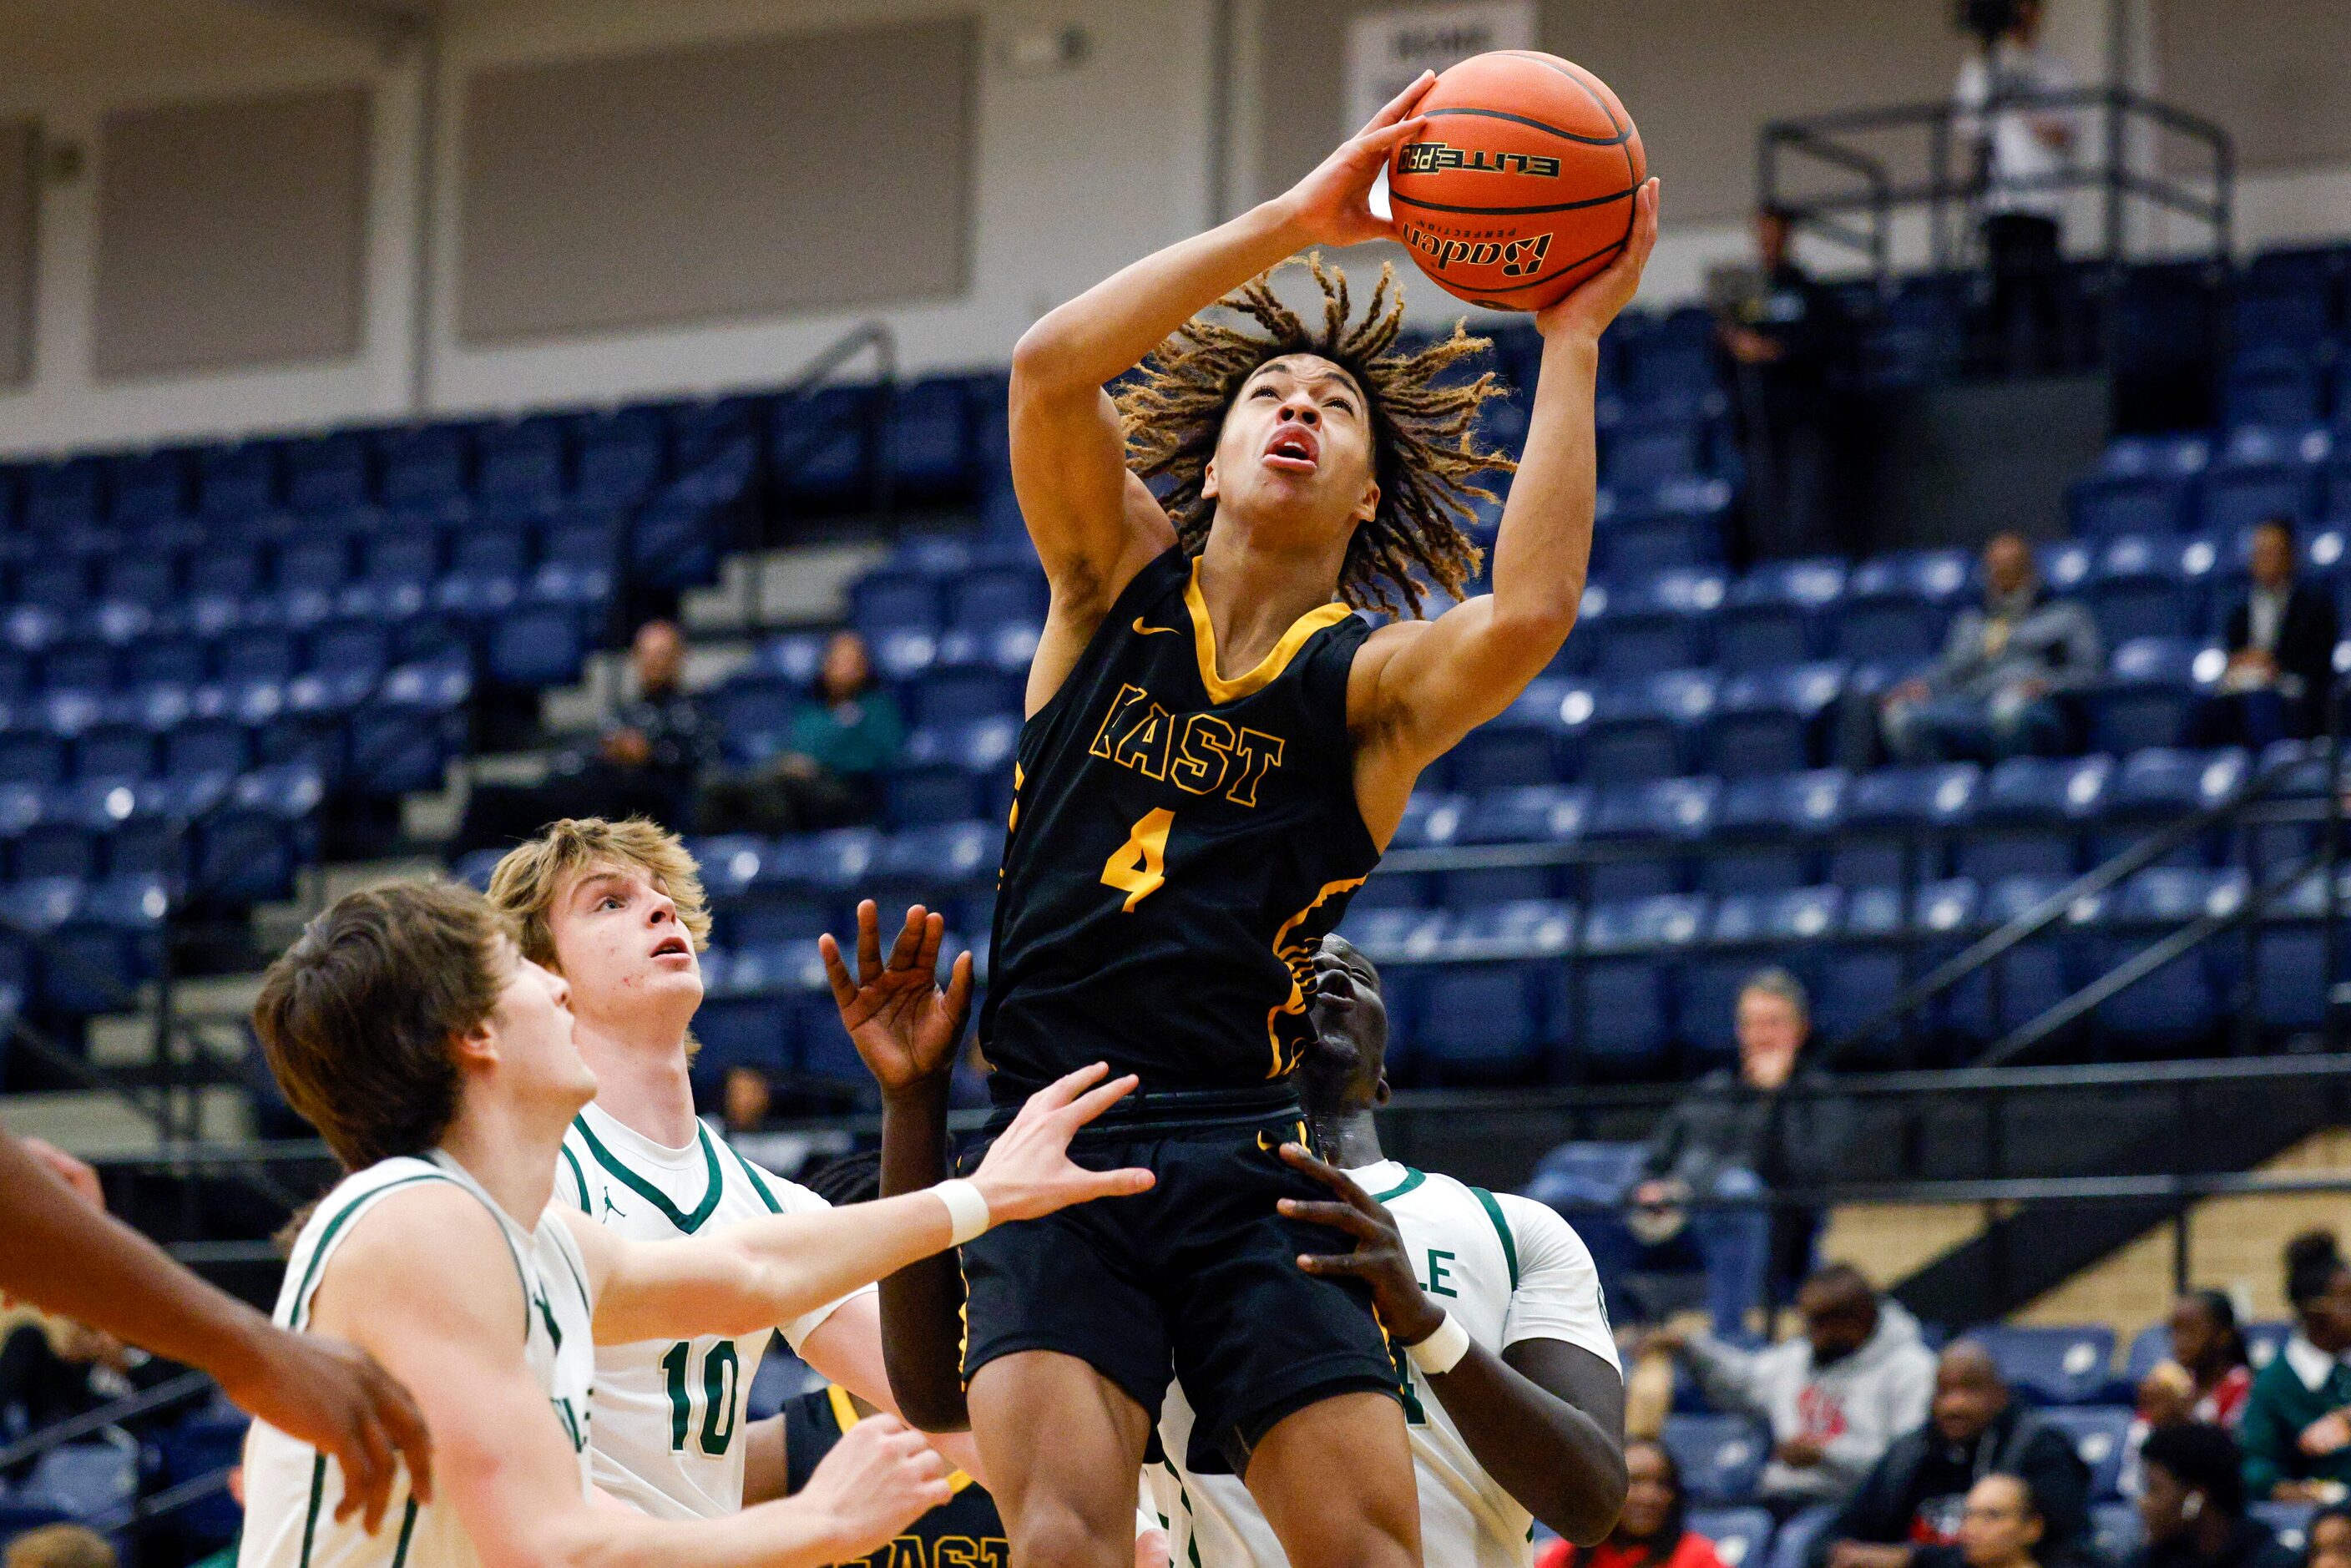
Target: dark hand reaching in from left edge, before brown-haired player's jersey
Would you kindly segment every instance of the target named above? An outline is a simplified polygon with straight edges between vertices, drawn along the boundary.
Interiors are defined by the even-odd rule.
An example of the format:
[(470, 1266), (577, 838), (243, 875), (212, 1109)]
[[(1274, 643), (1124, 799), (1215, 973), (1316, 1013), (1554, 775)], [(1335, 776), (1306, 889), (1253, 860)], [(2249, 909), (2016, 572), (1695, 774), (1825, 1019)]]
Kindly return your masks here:
[(362, 1514), (374, 1535), (397, 1460), (409, 1467), (411, 1495), (433, 1500), (433, 1434), (409, 1392), (374, 1356), (341, 1340), (270, 1328), (252, 1363), (252, 1375), (223, 1380), (221, 1392), (287, 1436), (334, 1455), (343, 1467), (336, 1521)]

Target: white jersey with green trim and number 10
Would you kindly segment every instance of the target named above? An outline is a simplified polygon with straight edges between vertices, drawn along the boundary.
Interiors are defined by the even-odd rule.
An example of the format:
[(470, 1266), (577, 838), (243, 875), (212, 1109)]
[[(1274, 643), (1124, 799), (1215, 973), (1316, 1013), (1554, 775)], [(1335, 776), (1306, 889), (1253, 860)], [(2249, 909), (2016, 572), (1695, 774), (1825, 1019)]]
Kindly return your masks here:
[[(590, 1105), (564, 1133), (555, 1199), (630, 1241), (675, 1241), (771, 1213), (828, 1208), (696, 1124), (682, 1150)], [(872, 1286), (865, 1286), (868, 1291)], [(846, 1298), (844, 1298), (846, 1300)], [(778, 1324), (792, 1349), (842, 1302)], [(656, 1519), (717, 1519), (743, 1507), (743, 1406), (766, 1333), (642, 1340), (595, 1356), (595, 1483)]]

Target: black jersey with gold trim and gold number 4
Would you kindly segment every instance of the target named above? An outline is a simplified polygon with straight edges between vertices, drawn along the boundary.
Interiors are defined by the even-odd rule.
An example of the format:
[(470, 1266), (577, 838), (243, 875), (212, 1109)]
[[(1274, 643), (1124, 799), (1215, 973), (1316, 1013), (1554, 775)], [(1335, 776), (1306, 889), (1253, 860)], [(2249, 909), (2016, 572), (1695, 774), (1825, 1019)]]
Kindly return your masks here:
[(1020, 729), (980, 1011), (999, 1103), (1093, 1060), (1145, 1091), (1298, 1065), (1314, 945), (1380, 858), (1347, 733), (1368, 632), (1324, 604), (1220, 679), (1194, 562), (1126, 585)]

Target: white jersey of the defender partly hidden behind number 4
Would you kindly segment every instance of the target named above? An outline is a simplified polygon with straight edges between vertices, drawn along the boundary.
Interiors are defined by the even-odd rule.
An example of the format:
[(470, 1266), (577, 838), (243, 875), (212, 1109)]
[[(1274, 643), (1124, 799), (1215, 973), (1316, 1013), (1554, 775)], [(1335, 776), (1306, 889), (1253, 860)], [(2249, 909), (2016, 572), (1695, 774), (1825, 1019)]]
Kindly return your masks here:
[[(1467, 1187), (1385, 1159), (1354, 1180), (1394, 1215), (1413, 1276), (1469, 1338), (1500, 1354), (1519, 1340), (1566, 1340), (1617, 1363), (1599, 1272), (1575, 1229), (1549, 1206)], [(1335, 1232), (1333, 1232), (1335, 1237)], [(1338, 1251), (1345, 1239), (1338, 1237)], [(1396, 1352), (1404, 1420), (1420, 1483), (1420, 1552), (1446, 1568), (1528, 1568), (1533, 1516), (1479, 1467), (1427, 1375)], [(1272, 1526), (1239, 1476), (1183, 1467), (1192, 1406), (1171, 1385), (1159, 1413), (1168, 1460), (1143, 1472), (1180, 1568), (1286, 1568)]]

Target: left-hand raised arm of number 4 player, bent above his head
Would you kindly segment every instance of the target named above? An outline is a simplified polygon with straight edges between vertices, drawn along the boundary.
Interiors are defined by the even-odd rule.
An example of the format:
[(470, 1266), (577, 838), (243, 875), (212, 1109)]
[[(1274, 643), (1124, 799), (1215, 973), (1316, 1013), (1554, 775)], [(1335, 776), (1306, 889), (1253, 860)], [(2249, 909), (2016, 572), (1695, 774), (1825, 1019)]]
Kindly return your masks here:
[(1176, 538), (1150, 489), (1126, 470), (1119, 414), (1103, 386), (1284, 256), (1307, 244), (1385, 237), (1371, 186), (1387, 150), (1418, 129), (1406, 110), (1429, 80), (1406, 87), (1284, 195), (1121, 268), (1020, 336), (1011, 383), (1013, 491), (1053, 585), (1053, 618), (1079, 642), (1126, 581)]

